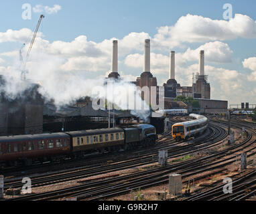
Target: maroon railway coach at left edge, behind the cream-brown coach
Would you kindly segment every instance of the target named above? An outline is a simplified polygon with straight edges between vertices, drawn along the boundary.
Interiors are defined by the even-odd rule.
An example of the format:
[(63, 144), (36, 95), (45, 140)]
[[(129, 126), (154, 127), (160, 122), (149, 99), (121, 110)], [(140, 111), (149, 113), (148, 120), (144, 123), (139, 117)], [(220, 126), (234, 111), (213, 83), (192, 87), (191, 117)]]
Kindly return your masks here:
[(0, 161), (50, 160), (70, 152), (70, 136), (65, 133), (0, 136)]

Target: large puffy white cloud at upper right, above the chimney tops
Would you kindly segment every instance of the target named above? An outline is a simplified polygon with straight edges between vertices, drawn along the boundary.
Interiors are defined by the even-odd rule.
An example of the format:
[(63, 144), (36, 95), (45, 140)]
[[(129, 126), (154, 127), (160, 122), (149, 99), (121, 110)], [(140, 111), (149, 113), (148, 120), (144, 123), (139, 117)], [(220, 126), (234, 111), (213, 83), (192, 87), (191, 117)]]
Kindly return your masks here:
[(176, 47), (181, 43), (256, 38), (256, 23), (247, 15), (235, 14), (229, 21), (200, 15), (180, 17), (174, 26), (159, 27), (153, 37), (159, 47)]

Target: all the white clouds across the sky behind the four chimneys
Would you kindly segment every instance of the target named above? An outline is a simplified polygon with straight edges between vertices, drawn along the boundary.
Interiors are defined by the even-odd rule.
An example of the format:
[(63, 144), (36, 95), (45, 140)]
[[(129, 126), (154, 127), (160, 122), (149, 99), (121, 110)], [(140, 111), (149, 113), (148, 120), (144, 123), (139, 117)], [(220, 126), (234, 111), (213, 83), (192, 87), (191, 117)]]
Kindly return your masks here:
[[(41, 10), (46, 10), (46, 6), (37, 5), (34, 9), (40, 13)], [(56, 11), (58, 11), (58, 7), (55, 7), (55, 9), (52, 7), (52, 10), (48, 8), (49, 13), (56, 13)], [(9, 29), (6, 32), (0, 32), (0, 43), (11, 41), (26, 43), (23, 49), (23, 54), (25, 55), (32, 35), (33, 32), (30, 29)], [(230, 21), (213, 20), (198, 15), (186, 15), (180, 17), (174, 26), (159, 27), (157, 34), (153, 35), (153, 37), (150, 37), (145, 32), (131, 32), (118, 39), (119, 64), (135, 68), (137, 73), (132, 73), (129, 70), (127, 75), (125, 75), (125, 72), (120, 72), (120, 74), (130, 80), (135, 80), (141, 74), (143, 70), (144, 40), (151, 38), (151, 71), (154, 76), (157, 76), (158, 84), (160, 85), (163, 80), (166, 82), (169, 76), (170, 56), (164, 54), (166, 50), (169, 51), (171, 47), (184, 47), (182, 45), (196, 42), (200, 43), (198, 48), (191, 49), (188, 46), (184, 52), (176, 52), (177, 81), (182, 86), (191, 86), (192, 72), (198, 72), (199, 51), (204, 49), (205, 72), (209, 76), (212, 97), (235, 100), (237, 96), (249, 96), (245, 87), (248, 80), (256, 81), (256, 58), (248, 58), (243, 62), (245, 68), (253, 71), (248, 80), (247, 76), (236, 70), (208, 66), (208, 63), (224, 64), (232, 62), (233, 51), (227, 43), (222, 41), (236, 39), (237, 37), (256, 38), (255, 21), (246, 15), (240, 14), (235, 15), (234, 19)], [(51, 71), (59, 70), (58, 74), (61, 72), (70, 72), (70, 74), (99, 72), (100, 75), (104, 75), (111, 68), (113, 39), (117, 38), (94, 42), (88, 40), (86, 35), (80, 35), (72, 41), (50, 42), (42, 39), (42, 33), (39, 32), (27, 67), (29, 70), (37, 68), (36, 64), (40, 64), (38, 62), (40, 54), (46, 54), (49, 59), (51, 57), (60, 59), (56, 63), (56, 68), (51, 68)], [(156, 49), (160, 51), (156, 52)], [(19, 62), (19, 49), (6, 51), (0, 55), (16, 59)], [(44, 60), (44, 62), (47, 61)], [(188, 66), (191, 62), (195, 62), (195, 64)], [(5, 68), (2, 66), (0, 67), (0, 72), (1, 74), (9, 74), (11, 67)], [(160, 81), (162, 82), (160, 83)], [(254, 89), (250, 93), (255, 94)]]

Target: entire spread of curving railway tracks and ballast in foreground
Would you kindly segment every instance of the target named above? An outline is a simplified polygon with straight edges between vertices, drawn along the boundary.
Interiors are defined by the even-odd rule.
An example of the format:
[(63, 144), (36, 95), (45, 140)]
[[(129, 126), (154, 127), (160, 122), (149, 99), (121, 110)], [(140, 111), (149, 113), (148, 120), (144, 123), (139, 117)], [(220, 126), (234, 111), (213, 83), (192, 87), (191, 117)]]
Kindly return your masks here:
[[(223, 116), (208, 116), (200, 136), (175, 140), (171, 130), (159, 135), (155, 145), (135, 150), (86, 154), (76, 160), (7, 167), (5, 200), (253, 200), (255, 199), (255, 128), (245, 116), (231, 116), (235, 142), (228, 140), (229, 123)], [(173, 124), (190, 120), (173, 116)], [(159, 150), (167, 153), (159, 165)], [(246, 165), (241, 156), (246, 154)], [(38, 167), (40, 165), (40, 167)], [(170, 191), (170, 175), (180, 175), (180, 187)], [(21, 176), (22, 175), (22, 176)], [(11, 195), (31, 179), (31, 193)], [(232, 193), (224, 193), (225, 179)], [(178, 184), (178, 183), (177, 183)], [(227, 188), (228, 189), (228, 188)], [(9, 193), (9, 194), (7, 194)]]

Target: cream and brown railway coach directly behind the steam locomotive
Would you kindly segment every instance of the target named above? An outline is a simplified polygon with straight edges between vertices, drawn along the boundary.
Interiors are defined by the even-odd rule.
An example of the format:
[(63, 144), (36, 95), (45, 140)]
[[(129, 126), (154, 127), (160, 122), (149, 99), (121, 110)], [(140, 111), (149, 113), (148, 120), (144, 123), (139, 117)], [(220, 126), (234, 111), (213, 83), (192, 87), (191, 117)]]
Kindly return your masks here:
[(105, 128), (66, 132), (70, 134), (72, 151), (104, 150), (121, 148), (125, 144), (123, 128)]

